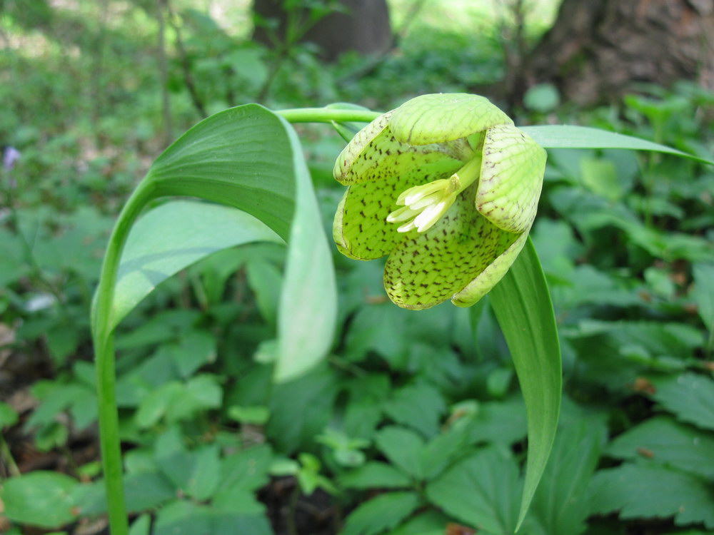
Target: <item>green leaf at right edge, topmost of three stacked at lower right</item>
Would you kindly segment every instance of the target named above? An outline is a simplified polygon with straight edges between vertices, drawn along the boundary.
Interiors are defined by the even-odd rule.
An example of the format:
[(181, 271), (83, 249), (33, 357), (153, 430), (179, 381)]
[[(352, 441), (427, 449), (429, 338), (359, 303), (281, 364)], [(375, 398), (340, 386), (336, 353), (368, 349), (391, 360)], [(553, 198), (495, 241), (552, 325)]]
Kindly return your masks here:
[(651, 379), (651, 397), (675, 414), (678, 420), (714, 429), (714, 380), (705, 375), (684, 373)]

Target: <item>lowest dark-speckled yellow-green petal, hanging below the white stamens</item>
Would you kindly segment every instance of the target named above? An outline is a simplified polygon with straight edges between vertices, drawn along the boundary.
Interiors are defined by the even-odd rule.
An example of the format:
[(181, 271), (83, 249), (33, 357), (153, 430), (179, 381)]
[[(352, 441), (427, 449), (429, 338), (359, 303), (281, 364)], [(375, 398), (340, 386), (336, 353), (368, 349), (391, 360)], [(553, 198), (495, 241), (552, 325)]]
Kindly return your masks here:
[(384, 268), (384, 287), (397, 305), (421, 310), (446, 301), (518, 239), (473, 209), (475, 189), (459, 195), (425, 233), (403, 235)]

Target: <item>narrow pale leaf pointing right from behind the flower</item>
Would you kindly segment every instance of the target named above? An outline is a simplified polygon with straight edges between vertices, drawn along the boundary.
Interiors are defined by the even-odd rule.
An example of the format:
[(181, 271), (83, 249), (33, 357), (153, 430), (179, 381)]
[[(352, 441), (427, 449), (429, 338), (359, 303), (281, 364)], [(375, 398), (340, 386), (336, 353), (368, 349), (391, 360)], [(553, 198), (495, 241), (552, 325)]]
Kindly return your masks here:
[(588, 128), (586, 126), (544, 125), (522, 126), (538, 145), (543, 148), (626, 148), (633, 151), (654, 151), (675, 154), (701, 163), (714, 165), (713, 161), (683, 153), (652, 141), (645, 141), (633, 136)]

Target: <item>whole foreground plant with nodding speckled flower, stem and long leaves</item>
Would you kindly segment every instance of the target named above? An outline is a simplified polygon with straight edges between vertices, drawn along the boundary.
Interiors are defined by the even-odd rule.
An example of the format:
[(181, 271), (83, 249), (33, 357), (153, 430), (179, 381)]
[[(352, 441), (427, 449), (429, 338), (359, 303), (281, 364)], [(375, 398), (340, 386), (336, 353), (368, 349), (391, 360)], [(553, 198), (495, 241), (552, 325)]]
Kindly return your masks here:
[[(238, 106), (201, 121), (156, 160), (119, 215), (92, 309), (101, 453), (112, 535), (129, 533), (115, 399), (114, 329), (156, 284), (188, 264), (238, 243), (284, 241), (288, 255), (272, 380), (284, 382), (314, 367), (333, 343), (336, 284), (308, 169), (296, 132), (288, 123), (332, 123), (348, 137), (356, 123), (371, 121), (375, 122), (357, 133), (338, 158), (336, 178), (351, 184), (350, 188), (369, 189), (365, 184), (372, 183), (364, 178), (372, 173), (391, 180), (389, 194), (372, 188), (361, 197), (376, 201), (378, 209), (371, 204), (363, 208), (363, 214), (357, 210), (361, 217), (371, 219), (373, 230), (360, 229), (359, 222), (351, 219), (354, 212), (346, 213), (351, 208), (350, 193), (346, 195), (336, 218), (338, 248), (354, 258), (378, 258), (400, 251), (392, 246), (400, 235), (411, 240), (411, 245), (396, 253), (401, 255), (396, 269), (391, 270), (397, 261), (388, 261), (385, 279), (388, 295), (409, 308), (425, 308), (448, 298), (457, 305), (472, 305), (496, 285), (491, 306), (516, 363), (529, 422), (520, 514), (516, 515), (517, 506), (509, 506), (510, 520), (501, 527), (517, 529), (523, 520), (548, 461), (560, 407), (560, 350), (548, 287), (531, 245), (516, 260), (535, 216), (545, 163), (543, 148), (633, 148), (694, 157), (594, 129), (538, 126), (519, 130), (485, 98), (458, 94), (421, 96), (386, 114), (349, 104), (278, 112), (256, 104)], [(391, 133), (385, 134), (387, 128)], [(410, 168), (411, 158), (421, 170)], [(177, 196), (241, 212), (231, 214), (214, 205), (174, 200), (140, 218), (149, 203)], [(452, 228), (456, 216), (463, 218)], [(348, 224), (356, 225), (358, 232), (346, 230)], [(392, 240), (389, 247), (378, 255), (358, 254), (360, 240), (366, 238), (363, 244), (371, 247), (374, 231), (386, 228)], [(420, 272), (406, 277), (403, 268), (409, 257), (438, 249), (436, 234), (451, 230), (468, 238), (468, 247), (463, 248), (461, 240), (447, 240), (449, 254), (440, 263), (419, 260)], [(467, 262), (462, 272), (454, 258), (474, 262)], [(504, 277), (511, 264), (513, 270)], [(448, 267), (449, 282), (433, 291), (441, 282), (438, 270), (444, 267)], [(422, 289), (429, 295), (421, 295)], [(420, 469), (436, 475), (422, 461)], [(443, 478), (448, 481), (447, 475)], [(509, 495), (512, 491), (508, 489)], [(378, 533), (418, 506), (416, 494), (388, 496), (363, 506), (360, 510), (366, 512), (356, 516), (348, 530)], [(463, 505), (468, 508), (474, 499), (478, 501), (478, 496), (472, 498), (462, 500)], [(368, 511), (389, 508), (393, 500), (401, 504), (401, 512), (393, 519), (368, 518)], [(177, 503), (176, 507), (189, 505)], [(446, 504), (445, 508), (448, 511)], [(176, 519), (186, 512), (171, 511)], [(467, 521), (477, 513), (458, 509), (458, 516)], [(159, 527), (168, 529), (167, 515), (162, 514)]]

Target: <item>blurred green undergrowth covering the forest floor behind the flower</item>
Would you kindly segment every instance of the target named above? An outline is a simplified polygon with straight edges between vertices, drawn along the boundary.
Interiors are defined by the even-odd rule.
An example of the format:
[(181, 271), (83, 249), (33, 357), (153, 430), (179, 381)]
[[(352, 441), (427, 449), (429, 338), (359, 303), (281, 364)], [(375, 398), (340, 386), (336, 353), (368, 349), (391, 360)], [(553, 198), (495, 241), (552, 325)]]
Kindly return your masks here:
[[(513, 21), (465, 4), (423, 9), (372, 66), (350, 54), (326, 65), (307, 44), (278, 61), (248, 39), (244, 2), (176, 0), (162, 19), (163, 75), (154, 3), (0, 4), (0, 143), (21, 152), (0, 171), (0, 531), (106, 527), (89, 305), (116, 213), (151, 161), (201, 108), (388, 109), (498, 81)], [(547, 27), (546, 4), (528, 39)], [(410, 3), (391, 7), (402, 28)], [(521, 124), (597, 126), (712, 158), (714, 94), (690, 83), (587, 110), (536, 86), (512, 111)], [(323, 126), (299, 131), (327, 230), (343, 141)], [(549, 151), (533, 239), (565, 404), (521, 533), (714, 530), (713, 204), (714, 171), (697, 163)], [(525, 411), (488, 299), (400, 310), (379, 262), (335, 254), (331, 354), (274, 386), (285, 256), (278, 243), (217, 253), (121, 325), (132, 535), (436, 535), (447, 524), (510, 534)]]

